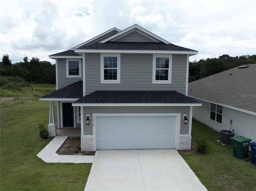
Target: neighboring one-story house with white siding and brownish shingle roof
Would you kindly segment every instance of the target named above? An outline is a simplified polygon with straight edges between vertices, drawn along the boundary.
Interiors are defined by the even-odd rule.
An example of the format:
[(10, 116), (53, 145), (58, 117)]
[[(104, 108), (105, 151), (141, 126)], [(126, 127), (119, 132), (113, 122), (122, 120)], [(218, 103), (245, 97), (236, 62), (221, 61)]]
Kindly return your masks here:
[(234, 130), (256, 142), (256, 64), (241, 65), (188, 83), (188, 96), (202, 102), (193, 118), (214, 130)]

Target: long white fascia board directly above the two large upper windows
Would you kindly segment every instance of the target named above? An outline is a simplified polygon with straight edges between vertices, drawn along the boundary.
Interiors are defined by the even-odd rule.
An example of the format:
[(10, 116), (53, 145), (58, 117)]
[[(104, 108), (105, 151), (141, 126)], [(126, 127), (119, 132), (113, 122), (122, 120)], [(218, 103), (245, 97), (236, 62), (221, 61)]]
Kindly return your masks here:
[(132, 53), (132, 54), (198, 54), (198, 51), (169, 51), (169, 50), (106, 50), (106, 49), (75, 49), (79, 53)]

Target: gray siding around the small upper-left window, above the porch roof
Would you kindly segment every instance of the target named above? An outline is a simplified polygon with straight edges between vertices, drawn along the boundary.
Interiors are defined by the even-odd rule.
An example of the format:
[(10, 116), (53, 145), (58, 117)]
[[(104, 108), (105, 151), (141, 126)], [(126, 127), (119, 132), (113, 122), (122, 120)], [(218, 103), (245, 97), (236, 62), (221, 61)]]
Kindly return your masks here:
[[(82, 65), (82, 59), (81, 59), (81, 65)], [(81, 68), (81, 72), (83, 71), (82, 68)], [(67, 85), (70, 85), (80, 80), (83, 80), (83, 78), (82, 77), (67, 78), (66, 77), (66, 59), (58, 59), (58, 89), (61, 89)]]

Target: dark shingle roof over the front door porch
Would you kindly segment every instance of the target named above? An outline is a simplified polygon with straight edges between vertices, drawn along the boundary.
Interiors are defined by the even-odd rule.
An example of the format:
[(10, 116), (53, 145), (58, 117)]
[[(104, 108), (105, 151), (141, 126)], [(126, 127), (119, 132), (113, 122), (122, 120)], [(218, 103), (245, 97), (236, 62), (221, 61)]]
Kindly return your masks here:
[(40, 98), (81, 98), (83, 96), (83, 81), (70, 84)]

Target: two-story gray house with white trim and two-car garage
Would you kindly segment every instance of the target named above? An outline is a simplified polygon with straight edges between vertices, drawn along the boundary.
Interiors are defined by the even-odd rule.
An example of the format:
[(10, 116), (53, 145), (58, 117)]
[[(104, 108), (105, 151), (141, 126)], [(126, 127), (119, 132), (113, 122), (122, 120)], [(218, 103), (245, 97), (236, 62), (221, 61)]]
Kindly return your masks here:
[(192, 107), (202, 105), (187, 96), (197, 53), (133, 25), (50, 55), (57, 90), (40, 98), (50, 101), (50, 136), (56, 101), (58, 128), (81, 128), (83, 151), (190, 149)]

